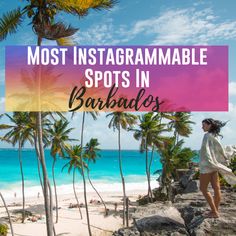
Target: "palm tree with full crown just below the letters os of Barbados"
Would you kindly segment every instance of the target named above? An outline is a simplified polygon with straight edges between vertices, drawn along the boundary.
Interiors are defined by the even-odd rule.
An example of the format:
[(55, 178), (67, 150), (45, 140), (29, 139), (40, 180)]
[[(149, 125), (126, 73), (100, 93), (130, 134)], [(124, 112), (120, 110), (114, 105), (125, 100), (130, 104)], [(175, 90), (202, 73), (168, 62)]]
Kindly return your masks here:
[(145, 160), (146, 160), (146, 176), (148, 182), (148, 199), (152, 201), (152, 190), (150, 184), (150, 165), (151, 160), (149, 162), (148, 158), (148, 147), (152, 147), (152, 151), (154, 150), (154, 143), (158, 142), (160, 137), (160, 133), (164, 131), (164, 125), (158, 122), (156, 116), (154, 116), (153, 112), (146, 113), (144, 115), (139, 116), (139, 128), (132, 129), (134, 131), (134, 138), (136, 140), (141, 140), (140, 143), (140, 151), (145, 151)]

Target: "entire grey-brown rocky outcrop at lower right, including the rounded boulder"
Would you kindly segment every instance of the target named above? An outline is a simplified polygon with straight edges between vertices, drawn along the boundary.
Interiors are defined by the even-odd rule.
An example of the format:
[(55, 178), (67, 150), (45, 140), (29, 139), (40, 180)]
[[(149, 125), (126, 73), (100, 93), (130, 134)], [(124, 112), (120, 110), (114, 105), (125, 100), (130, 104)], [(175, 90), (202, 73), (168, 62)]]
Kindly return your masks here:
[[(185, 181), (185, 189), (193, 181)], [(195, 182), (197, 183), (197, 182)], [(179, 186), (176, 184), (175, 186)], [(197, 184), (198, 185), (198, 184)], [(196, 188), (177, 194), (171, 202), (155, 202), (137, 207), (132, 214), (134, 224), (120, 229), (115, 236), (154, 236), (154, 235), (191, 235), (191, 236), (235, 236), (236, 235), (236, 192), (231, 188), (222, 189), (220, 217), (206, 218), (209, 210), (203, 195)], [(210, 192), (212, 190), (210, 189)]]

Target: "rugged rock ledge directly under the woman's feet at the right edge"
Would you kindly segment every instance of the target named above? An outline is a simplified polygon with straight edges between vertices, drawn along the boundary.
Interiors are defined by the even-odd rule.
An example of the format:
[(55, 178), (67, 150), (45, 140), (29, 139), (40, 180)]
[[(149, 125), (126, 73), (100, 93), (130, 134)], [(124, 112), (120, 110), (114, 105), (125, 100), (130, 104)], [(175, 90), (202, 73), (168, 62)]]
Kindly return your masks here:
[(180, 211), (189, 235), (236, 235), (236, 192), (230, 189), (222, 190), (217, 219), (204, 217), (209, 207), (200, 192), (176, 196), (173, 205)]

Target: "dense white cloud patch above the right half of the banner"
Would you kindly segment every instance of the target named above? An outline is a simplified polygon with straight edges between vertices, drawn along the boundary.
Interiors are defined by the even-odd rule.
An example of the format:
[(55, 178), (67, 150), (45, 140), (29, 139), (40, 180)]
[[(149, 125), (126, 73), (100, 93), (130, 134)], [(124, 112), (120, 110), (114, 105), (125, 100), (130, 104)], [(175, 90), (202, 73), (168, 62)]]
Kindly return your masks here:
[(218, 23), (208, 8), (168, 10), (161, 16), (135, 25), (135, 34), (152, 34), (152, 44), (208, 44), (212, 40), (231, 39), (236, 35), (236, 21)]

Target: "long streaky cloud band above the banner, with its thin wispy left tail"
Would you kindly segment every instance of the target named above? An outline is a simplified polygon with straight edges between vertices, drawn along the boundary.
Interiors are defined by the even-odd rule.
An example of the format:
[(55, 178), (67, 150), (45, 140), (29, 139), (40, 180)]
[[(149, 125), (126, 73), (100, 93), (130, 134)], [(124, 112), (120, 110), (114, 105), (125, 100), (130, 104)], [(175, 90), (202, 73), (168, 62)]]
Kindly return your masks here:
[(219, 22), (211, 8), (167, 10), (159, 16), (127, 25), (115, 25), (107, 19), (76, 35), (80, 44), (116, 45), (148, 36), (147, 44), (209, 44), (236, 36), (236, 21)]

